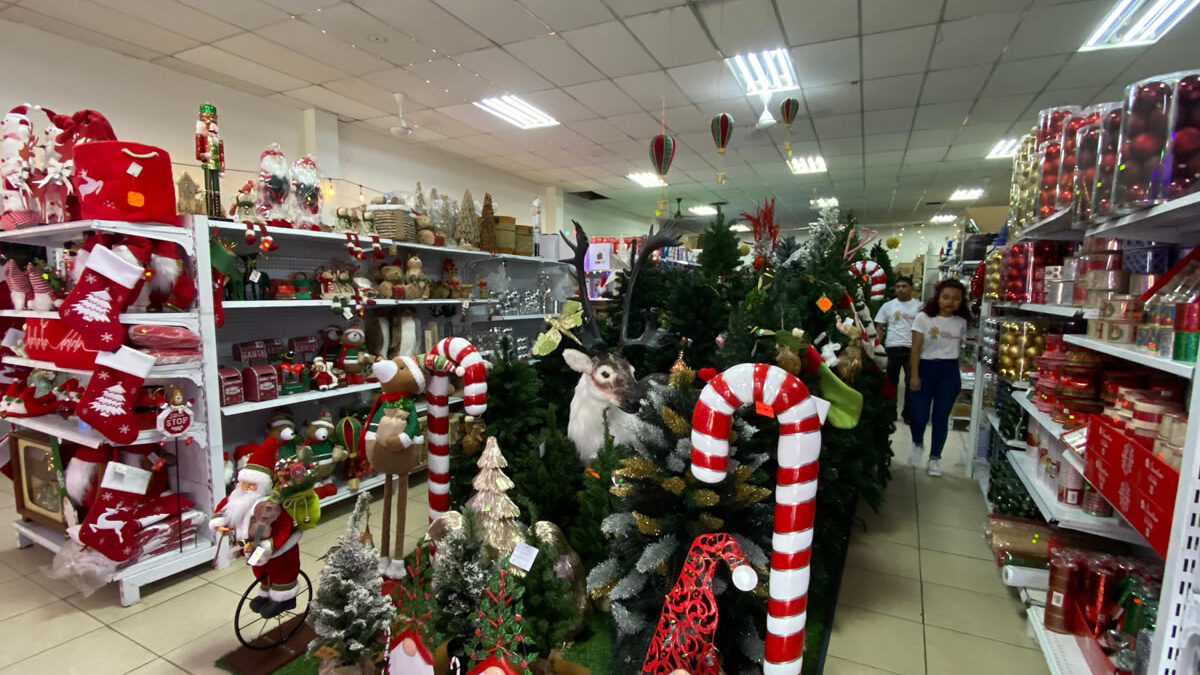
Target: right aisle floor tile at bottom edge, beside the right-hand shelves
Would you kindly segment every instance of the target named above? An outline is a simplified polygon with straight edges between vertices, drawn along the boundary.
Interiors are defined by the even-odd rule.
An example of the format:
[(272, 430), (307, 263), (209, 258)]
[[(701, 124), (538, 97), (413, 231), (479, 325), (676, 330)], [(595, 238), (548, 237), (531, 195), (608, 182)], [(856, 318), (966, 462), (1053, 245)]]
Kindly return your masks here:
[(1048, 675), (1040, 651), (997, 643), (936, 626), (925, 627), (929, 674)]

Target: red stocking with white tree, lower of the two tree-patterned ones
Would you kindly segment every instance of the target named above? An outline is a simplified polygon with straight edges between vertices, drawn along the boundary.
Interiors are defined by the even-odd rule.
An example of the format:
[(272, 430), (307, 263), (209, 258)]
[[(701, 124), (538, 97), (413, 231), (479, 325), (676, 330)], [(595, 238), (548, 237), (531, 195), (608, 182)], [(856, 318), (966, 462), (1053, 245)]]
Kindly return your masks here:
[(138, 437), (132, 401), (154, 363), (155, 357), (132, 347), (101, 352), (76, 407), (79, 419), (114, 443), (132, 443)]

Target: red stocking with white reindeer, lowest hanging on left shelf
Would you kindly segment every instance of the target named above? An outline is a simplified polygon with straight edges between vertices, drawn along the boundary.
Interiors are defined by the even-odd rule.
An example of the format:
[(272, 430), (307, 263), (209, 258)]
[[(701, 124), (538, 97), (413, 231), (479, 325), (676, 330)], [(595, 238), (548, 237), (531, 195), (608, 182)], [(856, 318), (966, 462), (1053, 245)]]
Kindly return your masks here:
[(79, 526), (79, 543), (96, 549), (113, 562), (125, 562), (137, 555), (142, 526), (134, 515), (149, 485), (149, 471), (108, 462), (96, 501)]

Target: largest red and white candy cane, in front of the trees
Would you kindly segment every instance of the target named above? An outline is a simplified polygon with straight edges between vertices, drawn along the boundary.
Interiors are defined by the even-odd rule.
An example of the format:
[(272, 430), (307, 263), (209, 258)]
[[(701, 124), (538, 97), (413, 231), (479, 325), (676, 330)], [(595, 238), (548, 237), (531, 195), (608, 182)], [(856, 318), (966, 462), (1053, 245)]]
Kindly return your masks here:
[(769, 406), (779, 420), (763, 674), (797, 675), (804, 661), (821, 454), (821, 420), (804, 383), (781, 368), (762, 363), (739, 364), (709, 380), (691, 414), (691, 473), (704, 483), (725, 479), (731, 416), (749, 404)]

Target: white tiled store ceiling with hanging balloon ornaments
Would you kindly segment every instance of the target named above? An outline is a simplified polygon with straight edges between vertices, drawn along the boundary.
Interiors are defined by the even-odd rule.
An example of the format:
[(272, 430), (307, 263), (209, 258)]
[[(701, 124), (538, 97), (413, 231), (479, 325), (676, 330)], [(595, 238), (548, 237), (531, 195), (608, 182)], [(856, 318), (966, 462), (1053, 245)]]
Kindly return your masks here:
[[(1055, 104), (1116, 101), (1142, 77), (1200, 66), (1200, 11), (1148, 47), (1079, 52), (1116, 0), (0, 0), (0, 18), (388, 135), (394, 92), (419, 143), (640, 217), (660, 189), (664, 126), (678, 148), (672, 209), (776, 198), (790, 226), (836, 197), (864, 223), (920, 223), (1008, 201), (988, 160)], [(800, 101), (791, 130), (724, 59), (787, 48)], [(520, 130), (474, 101), (517, 95), (560, 124)], [(713, 115), (734, 131), (719, 155)], [(794, 175), (797, 156), (828, 172)], [(726, 181), (716, 183), (724, 172)], [(974, 202), (948, 202), (983, 187)]]

